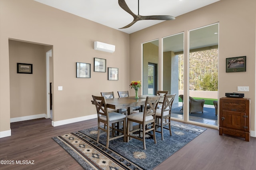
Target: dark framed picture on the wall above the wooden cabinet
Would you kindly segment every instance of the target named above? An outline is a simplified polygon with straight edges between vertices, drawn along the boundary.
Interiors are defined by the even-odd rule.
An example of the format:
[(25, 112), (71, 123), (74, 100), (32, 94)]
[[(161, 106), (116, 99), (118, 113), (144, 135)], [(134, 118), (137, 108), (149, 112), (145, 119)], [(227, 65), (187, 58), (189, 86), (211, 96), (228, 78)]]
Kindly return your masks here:
[(246, 71), (246, 56), (226, 58), (226, 72)]

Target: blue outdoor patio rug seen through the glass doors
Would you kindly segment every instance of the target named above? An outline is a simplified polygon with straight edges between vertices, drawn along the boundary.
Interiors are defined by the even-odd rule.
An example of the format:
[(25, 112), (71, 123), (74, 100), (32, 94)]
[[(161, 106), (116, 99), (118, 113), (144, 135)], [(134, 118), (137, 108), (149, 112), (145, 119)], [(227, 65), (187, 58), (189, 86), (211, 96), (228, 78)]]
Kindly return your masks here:
[[(172, 107), (171, 112), (179, 115), (183, 115), (183, 111), (180, 111), (181, 108), (182, 106), (176, 107), (176, 108)], [(204, 107), (204, 113), (202, 112), (190, 113), (190, 116), (201, 117), (201, 118), (211, 119), (211, 120), (218, 120), (218, 115), (215, 115), (215, 108), (209, 108), (209, 107)]]

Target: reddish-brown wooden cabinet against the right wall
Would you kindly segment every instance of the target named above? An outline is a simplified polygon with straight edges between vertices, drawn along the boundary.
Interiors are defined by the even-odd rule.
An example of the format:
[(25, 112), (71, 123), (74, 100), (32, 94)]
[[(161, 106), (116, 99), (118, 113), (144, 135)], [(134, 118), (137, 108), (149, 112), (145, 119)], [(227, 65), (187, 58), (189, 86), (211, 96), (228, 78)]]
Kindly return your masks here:
[(220, 98), (219, 134), (229, 134), (250, 141), (250, 99)]

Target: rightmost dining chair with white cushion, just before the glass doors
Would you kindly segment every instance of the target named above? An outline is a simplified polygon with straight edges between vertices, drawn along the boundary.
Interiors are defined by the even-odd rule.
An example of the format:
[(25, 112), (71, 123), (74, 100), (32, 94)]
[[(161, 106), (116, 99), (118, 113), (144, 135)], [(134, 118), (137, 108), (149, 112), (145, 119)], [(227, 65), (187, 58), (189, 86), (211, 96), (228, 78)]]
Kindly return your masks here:
[[(170, 131), (170, 136), (172, 136), (171, 131), (171, 109), (172, 103), (176, 93), (172, 95), (164, 95), (164, 101), (161, 109), (156, 109), (156, 132), (162, 134), (162, 140), (164, 140), (163, 129), (168, 129)], [(168, 127), (166, 127), (168, 125)], [(158, 128), (160, 127), (160, 131)]]

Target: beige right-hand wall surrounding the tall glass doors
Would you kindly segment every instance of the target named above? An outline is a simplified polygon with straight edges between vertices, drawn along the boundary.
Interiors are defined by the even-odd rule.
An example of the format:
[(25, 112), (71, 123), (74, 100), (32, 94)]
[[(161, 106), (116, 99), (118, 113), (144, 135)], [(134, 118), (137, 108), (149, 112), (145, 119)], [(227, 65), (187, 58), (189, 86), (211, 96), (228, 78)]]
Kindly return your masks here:
[[(140, 58), (142, 43), (161, 40), (163, 37), (184, 32), (184, 51), (188, 51), (189, 30), (219, 22), (218, 97), (225, 96), (226, 92), (237, 92), (237, 86), (249, 86), (250, 91), (244, 92), (244, 95), (251, 99), (251, 130), (255, 133), (255, 7), (255, 0), (221, 0), (178, 16), (176, 20), (162, 22), (130, 34), (130, 79), (141, 79), (136, 73), (141, 71), (138, 58)], [(159, 56), (162, 56), (160, 50), (161, 45)], [(246, 72), (226, 73), (226, 58), (244, 55), (247, 57)], [(184, 60), (184, 65), (188, 65), (188, 52), (184, 52)], [(161, 62), (162, 58), (159, 57), (159, 63)], [(188, 94), (187, 68), (185, 67), (184, 70), (185, 94)], [(162, 67), (159, 67), (158, 73), (161, 73), (161, 69)], [(159, 83), (160, 78), (161, 76), (159, 76)], [(184, 111), (187, 113), (187, 108)]]

